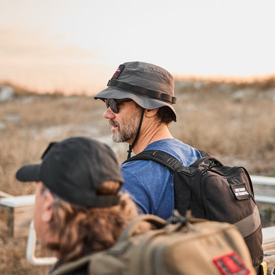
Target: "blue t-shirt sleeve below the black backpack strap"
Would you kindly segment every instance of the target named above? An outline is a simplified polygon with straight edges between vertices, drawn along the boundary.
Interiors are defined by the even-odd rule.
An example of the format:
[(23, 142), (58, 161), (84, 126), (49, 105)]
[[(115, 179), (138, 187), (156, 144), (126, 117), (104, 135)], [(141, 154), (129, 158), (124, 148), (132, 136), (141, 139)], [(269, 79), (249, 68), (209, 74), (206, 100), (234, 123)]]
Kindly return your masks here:
[(129, 192), (140, 214), (156, 214), (164, 219), (173, 212), (173, 176), (162, 165), (138, 160), (120, 166), (122, 190)]

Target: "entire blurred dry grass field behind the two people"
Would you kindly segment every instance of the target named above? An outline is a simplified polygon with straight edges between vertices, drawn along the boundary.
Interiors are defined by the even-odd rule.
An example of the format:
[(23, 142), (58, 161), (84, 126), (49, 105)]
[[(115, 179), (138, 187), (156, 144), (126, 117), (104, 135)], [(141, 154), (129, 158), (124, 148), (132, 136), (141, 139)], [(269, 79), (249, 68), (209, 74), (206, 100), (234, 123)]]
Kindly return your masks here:
[[(208, 151), (252, 175), (275, 176), (275, 78), (252, 83), (177, 81), (174, 137)], [(107, 142), (122, 162), (126, 144), (114, 144), (104, 120), (104, 103), (92, 96), (39, 95), (14, 88), (0, 101), (0, 190), (10, 195), (34, 192), (14, 174), (23, 164), (40, 162), (47, 144), (84, 135)], [(25, 259), (26, 238), (10, 238), (7, 213), (0, 210), (0, 274), (44, 274)]]

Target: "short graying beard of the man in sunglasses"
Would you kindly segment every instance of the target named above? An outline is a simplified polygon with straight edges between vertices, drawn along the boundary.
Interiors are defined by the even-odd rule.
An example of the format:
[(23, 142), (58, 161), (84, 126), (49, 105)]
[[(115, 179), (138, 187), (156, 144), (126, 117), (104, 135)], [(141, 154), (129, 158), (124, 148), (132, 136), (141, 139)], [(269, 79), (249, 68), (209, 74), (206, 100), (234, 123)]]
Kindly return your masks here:
[(131, 118), (126, 118), (122, 122), (112, 122), (118, 126), (116, 133), (111, 134), (113, 142), (128, 142), (137, 134), (137, 129), (140, 124), (140, 110), (133, 113)]

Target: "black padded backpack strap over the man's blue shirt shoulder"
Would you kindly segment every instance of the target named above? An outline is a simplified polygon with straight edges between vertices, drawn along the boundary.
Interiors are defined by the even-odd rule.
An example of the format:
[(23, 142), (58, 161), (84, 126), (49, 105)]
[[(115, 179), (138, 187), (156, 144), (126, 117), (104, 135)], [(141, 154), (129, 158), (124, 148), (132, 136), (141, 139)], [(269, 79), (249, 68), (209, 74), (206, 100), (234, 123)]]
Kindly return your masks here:
[(133, 157), (130, 157), (129, 159), (126, 159), (124, 163), (126, 162), (133, 162), (134, 160), (152, 160), (153, 162), (157, 162), (159, 164), (162, 164), (169, 170), (175, 171), (178, 168), (181, 168), (184, 166), (177, 160), (173, 155), (170, 155), (164, 151), (160, 150), (147, 150), (142, 151), (141, 153), (134, 155)]

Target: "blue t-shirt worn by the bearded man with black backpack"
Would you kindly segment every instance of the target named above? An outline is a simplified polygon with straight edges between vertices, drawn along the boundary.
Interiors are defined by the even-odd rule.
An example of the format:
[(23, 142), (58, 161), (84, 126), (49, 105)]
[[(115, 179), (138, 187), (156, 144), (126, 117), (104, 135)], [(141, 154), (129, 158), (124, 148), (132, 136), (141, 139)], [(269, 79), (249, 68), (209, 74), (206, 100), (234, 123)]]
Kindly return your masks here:
[[(201, 158), (199, 151), (169, 138), (149, 144), (146, 150), (162, 150), (173, 155), (184, 166)], [(126, 162), (120, 166), (124, 177), (123, 191), (129, 192), (140, 214), (155, 214), (168, 219), (174, 209), (174, 174), (168, 168), (148, 160)]]

